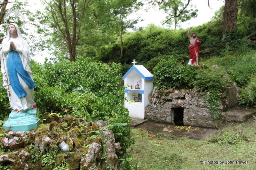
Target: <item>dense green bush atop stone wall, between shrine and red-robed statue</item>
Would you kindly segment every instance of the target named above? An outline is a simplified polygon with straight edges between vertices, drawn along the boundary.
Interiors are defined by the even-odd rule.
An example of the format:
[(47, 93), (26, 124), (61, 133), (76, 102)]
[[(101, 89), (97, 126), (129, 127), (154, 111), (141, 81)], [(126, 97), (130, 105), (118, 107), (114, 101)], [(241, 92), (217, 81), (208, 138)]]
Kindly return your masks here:
[(196, 78), (195, 66), (178, 63), (174, 57), (160, 61), (153, 71), (158, 88), (191, 88)]

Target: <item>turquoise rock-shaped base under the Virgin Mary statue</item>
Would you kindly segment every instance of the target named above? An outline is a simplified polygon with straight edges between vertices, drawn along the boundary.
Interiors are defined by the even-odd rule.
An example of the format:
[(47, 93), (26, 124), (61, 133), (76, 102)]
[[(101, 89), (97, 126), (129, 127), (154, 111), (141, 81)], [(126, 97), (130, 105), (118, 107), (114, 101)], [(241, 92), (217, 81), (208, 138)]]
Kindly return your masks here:
[(19, 111), (15, 113), (14, 110), (9, 115), (7, 121), (4, 122), (4, 130), (13, 131), (30, 131), (36, 129), (40, 124), (40, 119), (36, 116), (36, 110), (30, 109), (27, 111)]

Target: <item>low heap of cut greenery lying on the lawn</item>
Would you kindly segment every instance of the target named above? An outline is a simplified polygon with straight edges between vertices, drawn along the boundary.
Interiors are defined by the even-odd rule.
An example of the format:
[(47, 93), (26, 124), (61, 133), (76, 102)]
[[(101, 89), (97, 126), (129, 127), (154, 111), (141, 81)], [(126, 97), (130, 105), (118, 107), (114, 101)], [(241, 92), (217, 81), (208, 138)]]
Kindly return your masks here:
[(240, 141), (244, 141), (246, 136), (241, 132), (226, 132), (222, 136), (214, 137), (209, 141), (212, 143), (218, 143), (220, 145), (234, 145)]

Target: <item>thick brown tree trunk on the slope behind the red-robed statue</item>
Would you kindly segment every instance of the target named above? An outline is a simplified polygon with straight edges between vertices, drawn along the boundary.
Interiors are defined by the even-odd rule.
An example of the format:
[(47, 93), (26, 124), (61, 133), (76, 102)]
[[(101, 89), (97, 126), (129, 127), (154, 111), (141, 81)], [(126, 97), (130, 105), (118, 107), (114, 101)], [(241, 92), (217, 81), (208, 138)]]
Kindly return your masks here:
[(222, 31), (223, 41), (227, 33), (236, 31), (237, 13), (238, 13), (237, 0), (225, 0), (225, 6), (223, 11), (223, 31)]

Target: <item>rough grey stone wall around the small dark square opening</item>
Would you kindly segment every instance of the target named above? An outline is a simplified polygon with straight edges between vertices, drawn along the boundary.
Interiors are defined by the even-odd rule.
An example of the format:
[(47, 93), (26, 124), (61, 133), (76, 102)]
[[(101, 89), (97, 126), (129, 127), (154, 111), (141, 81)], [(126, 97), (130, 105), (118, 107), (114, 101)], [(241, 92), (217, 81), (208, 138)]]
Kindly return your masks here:
[[(233, 88), (230, 89), (234, 90)], [(222, 96), (220, 111), (224, 111), (228, 107), (229, 91), (227, 90)], [(198, 87), (188, 90), (158, 90), (154, 88), (150, 98), (150, 104), (145, 108), (145, 119), (149, 121), (174, 125), (177, 123), (174, 122), (175, 112), (177, 108), (182, 108), (180, 111), (184, 109), (184, 125), (197, 127), (218, 126), (217, 123), (212, 121), (208, 109), (208, 102), (204, 98), (204, 92), (201, 92)], [(234, 100), (232, 105), (234, 105)]]

